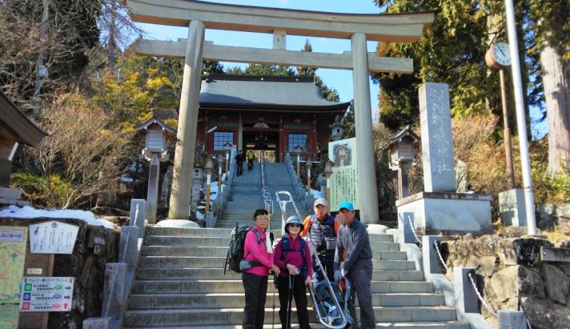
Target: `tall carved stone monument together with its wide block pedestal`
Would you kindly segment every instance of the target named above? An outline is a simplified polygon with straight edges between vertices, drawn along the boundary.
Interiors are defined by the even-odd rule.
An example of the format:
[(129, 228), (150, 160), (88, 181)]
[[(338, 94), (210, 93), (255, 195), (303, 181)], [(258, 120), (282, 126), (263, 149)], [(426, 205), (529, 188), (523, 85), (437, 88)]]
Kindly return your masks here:
[(419, 93), (425, 192), (396, 202), (400, 236), (415, 242), (405, 230), (410, 226), (422, 234), (490, 231), (490, 195), (456, 192), (447, 84), (425, 83)]

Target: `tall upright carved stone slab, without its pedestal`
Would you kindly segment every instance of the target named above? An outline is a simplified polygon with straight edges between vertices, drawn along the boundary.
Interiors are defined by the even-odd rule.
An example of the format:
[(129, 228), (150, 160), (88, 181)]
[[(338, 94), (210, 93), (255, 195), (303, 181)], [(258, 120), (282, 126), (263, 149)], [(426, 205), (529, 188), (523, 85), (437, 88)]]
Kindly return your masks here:
[(449, 87), (424, 83), (419, 93), (424, 190), (455, 192)]

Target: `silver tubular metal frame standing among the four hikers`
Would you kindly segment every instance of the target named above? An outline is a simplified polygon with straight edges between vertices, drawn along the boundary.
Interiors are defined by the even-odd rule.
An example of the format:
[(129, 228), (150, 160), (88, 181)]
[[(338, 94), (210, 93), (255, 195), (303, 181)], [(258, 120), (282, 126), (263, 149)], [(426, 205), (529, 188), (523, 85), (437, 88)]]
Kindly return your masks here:
[[(279, 197), (279, 194), (283, 194), (284, 196), (289, 197), (289, 199), (281, 200), (281, 197)], [(287, 204), (288, 203), (293, 204), (293, 208), (295, 209), (295, 213), (297, 214), (297, 216), (299, 216), (299, 218), (301, 217), (301, 214), (299, 214), (299, 209), (297, 209), (297, 206), (295, 204), (295, 201), (294, 201), (291, 193), (289, 193), (287, 191), (275, 192), (275, 199), (277, 201), (277, 204), (279, 204), (279, 208), (281, 209), (281, 236), (282, 236), (285, 234), (285, 221), (286, 221)], [(309, 232), (307, 232), (306, 236), (310, 242), (311, 241), (311, 234)], [(341, 308), (341, 304), (338, 303), (338, 300), (336, 299), (336, 293), (333, 290), (333, 286), (331, 286), (331, 281), (328, 281), (328, 277), (326, 276), (325, 268), (324, 268), (323, 264), (321, 263), (321, 260), (318, 258), (318, 255), (316, 255), (316, 250), (314, 249), (314, 246), (311, 243), (309, 243), (309, 250), (311, 251), (311, 258), (314, 258), (316, 266), (321, 270), (321, 273), (323, 273), (323, 278), (324, 278), (324, 281), (326, 282), (326, 286), (328, 288), (328, 291), (329, 291), (331, 297), (333, 298), (336, 309), (341, 314), (342, 323), (339, 325), (333, 325), (333, 324), (331, 324), (332, 319), (329, 318), (327, 315), (323, 315), (321, 313), (321, 308), (318, 307), (318, 305), (319, 305), (318, 295), (316, 294), (316, 291), (315, 291), (316, 276), (314, 275), (314, 280), (313, 280), (314, 284), (309, 286), (309, 295), (311, 295), (311, 300), (313, 301), (314, 310), (316, 310), (318, 320), (319, 320), (319, 322), (321, 322), (321, 324), (325, 328), (343, 329), (346, 326), (346, 323), (348, 322), (348, 319), (346, 318), (346, 309), (347, 308), (345, 307), (345, 311), (343, 311), (343, 308)]]

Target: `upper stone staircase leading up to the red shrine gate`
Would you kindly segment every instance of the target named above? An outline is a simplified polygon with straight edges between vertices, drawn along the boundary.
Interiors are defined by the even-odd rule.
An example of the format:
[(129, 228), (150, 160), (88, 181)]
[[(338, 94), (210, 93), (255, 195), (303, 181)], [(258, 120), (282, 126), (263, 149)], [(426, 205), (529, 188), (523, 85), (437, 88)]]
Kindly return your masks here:
[[(256, 209), (264, 208), (263, 198), (261, 197), (261, 174), (259, 172), (259, 162), (254, 162), (254, 169), (247, 170), (244, 165), (244, 174), (239, 177), (234, 177), (232, 184), (232, 191), (229, 194), (229, 199), (222, 211), (222, 216), (217, 220), (217, 228), (233, 228), (236, 223), (239, 225), (252, 224), (252, 216)], [(293, 184), (291, 178), (287, 173), (284, 163), (266, 163), (265, 172), (267, 177), (266, 187), (271, 193), (271, 199), (274, 200), (274, 219), (275, 222), (281, 221), (281, 209), (275, 202), (275, 192), (289, 191), (295, 199), (296, 206), (299, 208), (301, 216), (307, 216), (310, 209), (306, 209), (301, 205), (300, 197), (292, 192)], [(294, 214), (293, 207), (287, 207), (287, 215)], [(281, 226), (278, 224), (277, 226)], [(275, 227), (277, 227), (275, 226)], [(274, 227), (274, 226), (272, 226)]]

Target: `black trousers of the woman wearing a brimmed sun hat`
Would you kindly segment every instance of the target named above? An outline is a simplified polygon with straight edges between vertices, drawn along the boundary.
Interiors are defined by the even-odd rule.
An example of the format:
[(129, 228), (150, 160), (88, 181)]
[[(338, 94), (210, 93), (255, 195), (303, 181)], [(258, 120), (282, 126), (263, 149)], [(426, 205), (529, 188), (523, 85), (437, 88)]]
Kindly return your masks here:
[[(294, 281), (294, 283), (292, 282)], [(285, 328), (287, 319), (287, 303), (295, 298), (297, 308), (297, 320), (299, 320), (299, 328), (309, 329), (309, 311), (307, 310), (307, 293), (305, 288), (305, 279), (303, 276), (291, 276), (291, 284), (293, 291), (289, 291), (289, 276), (279, 276), (277, 278), (277, 289), (279, 290), (279, 319), (281, 320), (281, 328)], [(289, 322), (291, 328), (291, 322)]]

